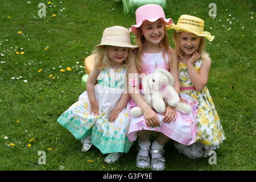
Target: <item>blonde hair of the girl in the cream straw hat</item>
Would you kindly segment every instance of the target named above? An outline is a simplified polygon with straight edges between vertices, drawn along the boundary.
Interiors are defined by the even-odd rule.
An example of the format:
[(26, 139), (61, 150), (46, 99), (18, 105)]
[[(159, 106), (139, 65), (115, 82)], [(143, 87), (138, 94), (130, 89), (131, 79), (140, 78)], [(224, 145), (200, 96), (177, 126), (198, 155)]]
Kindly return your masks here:
[[(97, 47), (92, 54), (95, 54), (95, 61), (93, 67), (102, 70), (108, 68), (110, 66), (110, 59), (108, 55), (108, 47), (109, 46), (99, 46)], [(130, 62), (131, 57), (131, 48), (128, 48), (128, 56), (125, 60), (123, 60), (122, 64), (127, 67), (127, 64)]]

